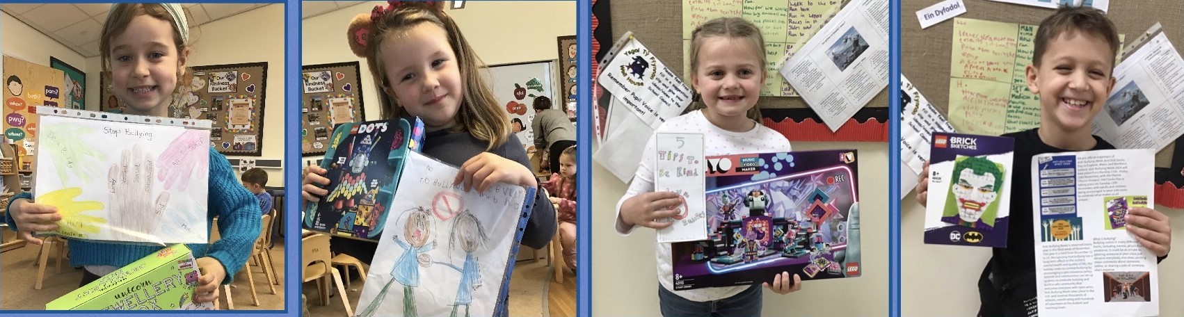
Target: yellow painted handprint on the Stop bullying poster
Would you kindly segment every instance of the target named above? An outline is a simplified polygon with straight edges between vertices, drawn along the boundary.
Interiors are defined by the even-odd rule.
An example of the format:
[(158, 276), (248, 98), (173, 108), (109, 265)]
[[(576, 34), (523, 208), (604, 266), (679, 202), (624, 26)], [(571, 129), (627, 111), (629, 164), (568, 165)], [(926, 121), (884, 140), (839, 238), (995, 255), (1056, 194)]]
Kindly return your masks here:
[(36, 199), (38, 203), (44, 203), (58, 208), (62, 220), (58, 221), (58, 233), (73, 238), (86, 238), (98, 233), (98, 224), (107, 224), (107, 219), (86, 215), (84, 212), (102, 211), (103, 203), (98, 201), (75, 201), (82, 194), (81, 187), (70, 187), (50, 192)]

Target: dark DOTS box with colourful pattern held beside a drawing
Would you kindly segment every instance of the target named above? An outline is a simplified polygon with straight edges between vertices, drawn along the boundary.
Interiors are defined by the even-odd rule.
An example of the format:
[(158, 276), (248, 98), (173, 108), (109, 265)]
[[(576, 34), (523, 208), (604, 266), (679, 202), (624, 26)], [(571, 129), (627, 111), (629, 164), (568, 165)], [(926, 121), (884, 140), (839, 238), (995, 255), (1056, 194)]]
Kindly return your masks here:
[[(417, 123), (418, 118), (414, 119)], [(391, 209), (391, 199), (399, 183), (404, 161), (423, 135), (407, 119), (343, 123), (333, 131), (333, 140), (321, 160), (328, 170), (321, 201), (309, 202), (304, 213), (305, 229), (339, 237), (377, 240)]]

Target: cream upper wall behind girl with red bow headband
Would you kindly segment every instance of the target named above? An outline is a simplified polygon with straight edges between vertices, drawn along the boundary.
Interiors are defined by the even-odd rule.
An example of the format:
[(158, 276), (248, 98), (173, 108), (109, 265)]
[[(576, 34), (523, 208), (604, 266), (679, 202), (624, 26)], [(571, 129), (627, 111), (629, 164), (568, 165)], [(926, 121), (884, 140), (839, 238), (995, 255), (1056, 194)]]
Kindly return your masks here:
[[(379, 117), (379, 90), (366, 60), (349, 51), (346, 28), (355, 15), (369, 14), (379, 4), (386, 5), (363, 2), (304, 19), (302, 25), (302, 65), (354, 60), (361, 64), (366, 119)], [(555, 38), (575, 35), (575, 1), (466, 1), (463, 9), (448, 13), (487, 65), (553, 60), (559, 58)], [(559, 78), (558, 65), (554, 69), (552, 78)]]

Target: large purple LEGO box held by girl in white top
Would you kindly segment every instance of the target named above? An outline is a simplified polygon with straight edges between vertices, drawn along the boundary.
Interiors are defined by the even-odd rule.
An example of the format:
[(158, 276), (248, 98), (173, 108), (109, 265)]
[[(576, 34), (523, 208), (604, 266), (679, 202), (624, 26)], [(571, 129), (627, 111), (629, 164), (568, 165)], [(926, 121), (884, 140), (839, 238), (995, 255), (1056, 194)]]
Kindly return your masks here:
[(674, 287), (858, 277), (855, 150), (708, 156), (708, 239), (675, 242)]

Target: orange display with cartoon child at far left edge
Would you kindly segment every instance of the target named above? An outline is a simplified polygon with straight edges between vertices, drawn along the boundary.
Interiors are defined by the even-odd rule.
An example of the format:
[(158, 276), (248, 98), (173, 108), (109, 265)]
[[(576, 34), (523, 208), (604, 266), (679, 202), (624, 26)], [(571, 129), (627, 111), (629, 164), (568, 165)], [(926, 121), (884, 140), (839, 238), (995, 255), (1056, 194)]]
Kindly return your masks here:
[(4, 135), (17, 143), (19, 169), (32, 169), (37, 153), (37, 109), (65, 106), (65, 73), (49, 66), (4, 56)]

